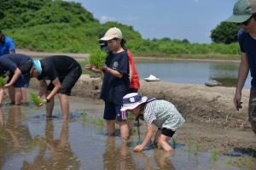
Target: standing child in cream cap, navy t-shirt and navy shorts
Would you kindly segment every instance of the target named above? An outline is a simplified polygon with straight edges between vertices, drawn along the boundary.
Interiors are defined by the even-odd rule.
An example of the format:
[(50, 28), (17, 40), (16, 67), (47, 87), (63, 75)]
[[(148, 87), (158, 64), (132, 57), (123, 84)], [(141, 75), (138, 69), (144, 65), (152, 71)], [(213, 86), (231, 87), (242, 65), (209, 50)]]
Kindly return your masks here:
[(119, 28), (110, 28), (101, 40), (107, 41), (110, 49), (106, 65), (102, 69), (91, 65), (86, 65), (86, 68), (90, 71), (104, 72), (101, 99), (105, 101), (103, 118), (107, 122), (108, 135), (114, 134), (117, 120), (121, 137), (125, 140), (129, 137), (129, 127), (126, 112), (121, 112), (120, 109), (122, 98), (129, 90), (129, 58), (121, 46), (123, 35)]

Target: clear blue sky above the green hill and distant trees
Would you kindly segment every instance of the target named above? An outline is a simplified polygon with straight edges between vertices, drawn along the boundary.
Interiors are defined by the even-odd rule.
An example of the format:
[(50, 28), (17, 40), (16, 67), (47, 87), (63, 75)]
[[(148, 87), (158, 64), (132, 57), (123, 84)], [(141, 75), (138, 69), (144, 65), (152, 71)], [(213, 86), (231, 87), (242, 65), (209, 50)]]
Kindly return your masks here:
[[(71, 0), (69, 0), (71, 1)], [(236, 0), (74, 0), (97, 20), (133, 26), (143, 38), (211, 42), (211, 30), (231, 14)]]

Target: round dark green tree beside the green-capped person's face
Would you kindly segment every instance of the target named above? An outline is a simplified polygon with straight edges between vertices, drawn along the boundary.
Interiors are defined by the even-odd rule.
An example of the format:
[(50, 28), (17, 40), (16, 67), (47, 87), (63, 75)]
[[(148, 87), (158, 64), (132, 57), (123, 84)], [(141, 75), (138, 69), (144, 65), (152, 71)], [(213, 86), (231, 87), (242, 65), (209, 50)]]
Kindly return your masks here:
[(237, 31), (239, 26), (231, 22), (221, 22), (216, 28), (211, 31), (211, 38), (213, 42), (223, 42), (230, 44), (237, 42)]

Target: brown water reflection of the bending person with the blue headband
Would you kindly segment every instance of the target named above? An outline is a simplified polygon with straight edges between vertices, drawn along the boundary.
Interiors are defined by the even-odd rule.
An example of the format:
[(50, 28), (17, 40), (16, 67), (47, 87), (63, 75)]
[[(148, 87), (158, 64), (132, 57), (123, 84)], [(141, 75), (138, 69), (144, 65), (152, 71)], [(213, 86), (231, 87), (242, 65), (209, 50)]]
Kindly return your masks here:
[(54, 134), (54, 122), (47, 120), (45, 136), (34, 139), (39, 147), (37, 156), (32, 162), (24, 161), (22, 169), (79, 169), (80, 161), (68, 143), (68, 122), (62, 122), (59, 139)]

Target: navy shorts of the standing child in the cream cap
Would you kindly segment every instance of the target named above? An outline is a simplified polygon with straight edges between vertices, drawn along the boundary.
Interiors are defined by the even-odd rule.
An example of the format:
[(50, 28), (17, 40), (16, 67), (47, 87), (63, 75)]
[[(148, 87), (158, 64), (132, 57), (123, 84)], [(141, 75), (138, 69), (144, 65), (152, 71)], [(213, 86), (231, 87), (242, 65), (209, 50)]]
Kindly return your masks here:
[(120, 111), (122, 105), (115, 105), (113, 102), (105, 101), (103, 118), (105, 120), (125, 121), (127, 118), (126, 111)]

